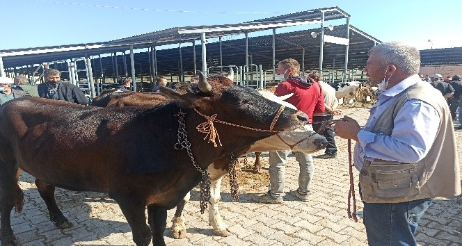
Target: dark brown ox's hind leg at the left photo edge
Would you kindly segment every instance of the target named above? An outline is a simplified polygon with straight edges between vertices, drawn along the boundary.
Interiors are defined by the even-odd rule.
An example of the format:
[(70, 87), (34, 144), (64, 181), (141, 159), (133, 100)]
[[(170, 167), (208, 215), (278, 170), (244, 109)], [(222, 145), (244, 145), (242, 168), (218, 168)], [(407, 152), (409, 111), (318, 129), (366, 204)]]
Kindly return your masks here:
[(0, 240), (1, 245), (21, 245), (11, 229), (11, 211), (21, 212), (24, 193), (17, 184), (21, 170), (0, 163)]

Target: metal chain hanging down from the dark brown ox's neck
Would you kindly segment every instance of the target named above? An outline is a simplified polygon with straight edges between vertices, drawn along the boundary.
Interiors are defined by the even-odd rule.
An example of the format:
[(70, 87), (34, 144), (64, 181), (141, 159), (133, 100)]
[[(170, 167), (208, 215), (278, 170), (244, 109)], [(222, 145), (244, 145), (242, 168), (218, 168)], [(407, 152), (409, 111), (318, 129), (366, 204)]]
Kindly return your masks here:
[(184, 121), (184, 113), (180, 110), (175, 116), (178, 117), (178, 142), (175, 143), (175, 149), (186, 149), (188, 152), (189, 158), (191, 158), (191, 163), (196, 167), (196, 170), (202, 174), (202, 180), (200, 181), (200, 213), (203, 214), (207, 208), (207, 202), (210, 201), (210, 175), (207, 170), (202, 170), (196, 159), (193, 156), (193, 151), (191, 151), (191, 142), (188, 140), (186, 133), (186, 123)]

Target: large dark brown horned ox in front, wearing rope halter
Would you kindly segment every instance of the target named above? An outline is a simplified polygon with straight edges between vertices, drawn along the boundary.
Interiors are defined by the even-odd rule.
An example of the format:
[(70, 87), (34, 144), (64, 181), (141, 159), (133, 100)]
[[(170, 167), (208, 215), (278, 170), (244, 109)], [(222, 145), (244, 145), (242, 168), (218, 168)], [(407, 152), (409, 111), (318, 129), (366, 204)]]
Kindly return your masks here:
[[(276, 131), (293, 129), (306, 119), (296, 110), (281, 111), (279, 104), (225, 77), (212, 77), (207, 83), (202, 76), (198, 88), (186, 95), (172, 92), (174, 101), (154, 107), (98, 108), (35, 97), (1, 106), (2, 244), (19, 245), (10, 213), (13, 208), (22, 210), (24, 195), (17, 181), (24, 170), (36, 178), (57, 227), (72, 223), (56, 206), (55, 186), (106, 192), (120, 206), (136, 245), (148, 245), (151, 238), (154, 245), (165, 245), (167, 210), (200, 181), (198, 170), (204, 173), (217, 158), (276, 133), (255, 129), (268, 129), (273, 122)], [(212, 119), (198, 112), (216, 114), (222, 122), (212, 125)], [(196, 129), (204, 122), (216, 129), (211, 134), (233, 134), (223, 134), (222, 145), (213, 147)]]

